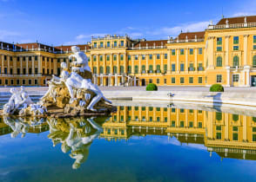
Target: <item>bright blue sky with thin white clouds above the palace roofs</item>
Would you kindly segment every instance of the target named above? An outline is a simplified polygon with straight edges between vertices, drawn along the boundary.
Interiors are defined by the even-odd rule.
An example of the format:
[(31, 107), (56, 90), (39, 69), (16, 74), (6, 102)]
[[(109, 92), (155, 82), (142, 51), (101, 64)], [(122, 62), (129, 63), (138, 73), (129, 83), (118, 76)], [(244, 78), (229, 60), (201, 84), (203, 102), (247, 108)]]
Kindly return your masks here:
[(243, 0), (0, 0), (0, 41), (77, 44), (91, 36), (125, 35), (147, 40), (199, 31), (224, 16), (256, 15)]

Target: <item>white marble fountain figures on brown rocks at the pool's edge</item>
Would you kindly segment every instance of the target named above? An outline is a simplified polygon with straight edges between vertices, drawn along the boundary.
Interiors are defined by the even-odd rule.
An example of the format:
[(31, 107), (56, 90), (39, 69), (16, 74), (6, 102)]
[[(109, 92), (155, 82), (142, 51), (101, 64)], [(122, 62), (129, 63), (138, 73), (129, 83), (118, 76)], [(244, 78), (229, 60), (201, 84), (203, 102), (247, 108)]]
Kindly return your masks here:
[[(71, 47), (73, 55), (70, 59), (71, 68), (65, 62), (61, 63), (60, 77), (52, 76), (48, 81), (49, 89), (44, 96), (34, 103), (21, 87), (20, 91), (10, 88), (10, 100), (3, 106), (3, 115), (49, 115), (69, 117), (86, 114), (109, 114), (116, 107), (111, 105), (97, 85), (91, 82), (91, 68), (84, 52), (77, 46)], [(59, 108), (63, 109), (56, 113)], [(53, 115), (54, 116), (54, 115)]]

